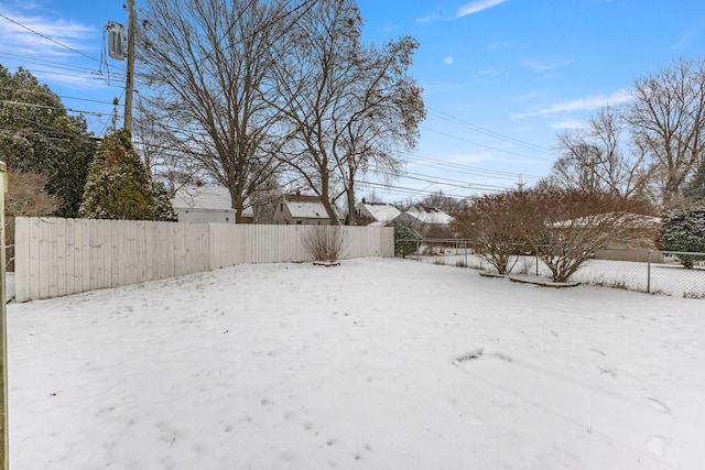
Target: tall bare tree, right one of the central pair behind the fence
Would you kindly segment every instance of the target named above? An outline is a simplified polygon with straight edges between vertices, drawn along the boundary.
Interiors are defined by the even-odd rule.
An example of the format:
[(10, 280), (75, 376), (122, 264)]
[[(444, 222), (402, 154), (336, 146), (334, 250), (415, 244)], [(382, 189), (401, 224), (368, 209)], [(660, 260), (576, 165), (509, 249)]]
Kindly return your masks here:
[(286, 121), (286, 163), (321, 197), (332, 223), (345, 195), (355, 223), (356, 182), (370, 165), (393, 175), (398, 145), (413, 147), (425, 116), (421, 88), (406, 76), (416, 42), (364, 47), (357, 4), (321, 0), (292, 28), (274, 62), (273, 106)]

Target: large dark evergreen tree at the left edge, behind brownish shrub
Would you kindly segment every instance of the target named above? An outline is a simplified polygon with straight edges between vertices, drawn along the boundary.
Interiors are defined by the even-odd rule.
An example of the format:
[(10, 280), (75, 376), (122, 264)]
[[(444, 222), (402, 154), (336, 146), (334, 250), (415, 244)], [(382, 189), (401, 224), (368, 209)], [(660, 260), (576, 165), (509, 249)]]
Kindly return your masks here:
[(46, 190), (61, 198), (56, 216), (78, 214), (96, 150), (87, 129), (30, 72), (0, 65), (0, 154), (11, 170), (46, 175)]

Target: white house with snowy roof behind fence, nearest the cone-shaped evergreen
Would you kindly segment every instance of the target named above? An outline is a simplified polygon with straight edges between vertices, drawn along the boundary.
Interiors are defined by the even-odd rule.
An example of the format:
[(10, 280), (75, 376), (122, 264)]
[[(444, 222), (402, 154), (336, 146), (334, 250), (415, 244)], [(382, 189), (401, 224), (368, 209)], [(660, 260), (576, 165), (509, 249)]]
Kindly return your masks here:
[[(224, 186), (183, 186), (172, 198), (172, 205), (180, 222), (235, 223), (235, 209), (230, 207), (230, 192)], [(246, 207), (241, 223), (252, 223), (253, 218), (252, 208)]]

